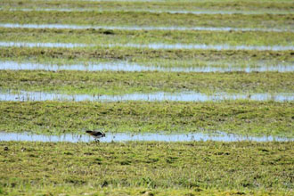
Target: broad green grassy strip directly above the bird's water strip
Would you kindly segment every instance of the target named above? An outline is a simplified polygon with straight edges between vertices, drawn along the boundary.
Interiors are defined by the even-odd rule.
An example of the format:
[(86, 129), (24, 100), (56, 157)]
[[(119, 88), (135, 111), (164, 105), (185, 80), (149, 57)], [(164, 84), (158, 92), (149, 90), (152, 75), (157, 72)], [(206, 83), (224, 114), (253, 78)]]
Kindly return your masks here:
[[(293, 137), (293, 102), (0, 102), (0, 130), (224, 131)], [(84, 133), (85, 134), (85, 133)]]

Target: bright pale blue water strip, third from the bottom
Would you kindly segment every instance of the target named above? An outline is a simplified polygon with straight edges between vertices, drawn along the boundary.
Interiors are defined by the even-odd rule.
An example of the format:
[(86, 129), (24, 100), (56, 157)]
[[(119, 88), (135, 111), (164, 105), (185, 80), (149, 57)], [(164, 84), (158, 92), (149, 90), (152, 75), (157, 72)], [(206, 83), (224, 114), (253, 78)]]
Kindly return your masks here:
[(134, 62), (128, 61), (115, 61), (115, 62), (100, 62), (85, 64), (69, 64), (69, 65), (50, 65), (32, 62), (16, 62), (16, 61), (0, 61), (0, 69), (11, 70), (85, 70), (85, 71), (167, 71), (167, 72), (231, 72), (231, 71), (244, 71), (244, 72), (265, 72), (265, 71), (279, 71), (290, 72), (294, 71), (294, 64), (277, 64), (274, 66), (261, 66), (261, 67), (172, 67), (163, 68), (159, 66), (144, 66)]

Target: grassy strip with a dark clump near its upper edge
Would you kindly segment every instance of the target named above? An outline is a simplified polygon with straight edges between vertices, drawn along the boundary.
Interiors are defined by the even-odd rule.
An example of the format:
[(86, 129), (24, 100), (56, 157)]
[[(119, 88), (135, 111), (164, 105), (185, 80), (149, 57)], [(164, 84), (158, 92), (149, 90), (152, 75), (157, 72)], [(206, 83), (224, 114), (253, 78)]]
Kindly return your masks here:
[[(83, 36), (81, 36), (83, 35)], [(204, 45), (294, 45), (290, 32), (215, 32), (103, 29), (4, 29), (0, 40), (85, 44), (204, 44)], [(131, 40), (131, 41), (130, 41)], [(278, 44), (277, 44), (278, 43)]]

